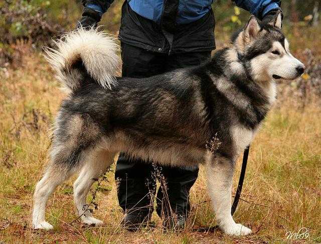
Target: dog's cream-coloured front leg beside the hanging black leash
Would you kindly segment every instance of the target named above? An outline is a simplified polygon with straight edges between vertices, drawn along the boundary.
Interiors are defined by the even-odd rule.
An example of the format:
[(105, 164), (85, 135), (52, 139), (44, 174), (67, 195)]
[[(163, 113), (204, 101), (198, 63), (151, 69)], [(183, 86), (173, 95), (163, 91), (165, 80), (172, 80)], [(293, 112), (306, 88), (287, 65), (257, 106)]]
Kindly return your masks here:
[(226, 157), (215, 156), (208, 162), (206, 171), (209, 193), (219, 227), (227, 234), (252, 233), (251, 229), (235, 223), (231, 215), (233, 161)]

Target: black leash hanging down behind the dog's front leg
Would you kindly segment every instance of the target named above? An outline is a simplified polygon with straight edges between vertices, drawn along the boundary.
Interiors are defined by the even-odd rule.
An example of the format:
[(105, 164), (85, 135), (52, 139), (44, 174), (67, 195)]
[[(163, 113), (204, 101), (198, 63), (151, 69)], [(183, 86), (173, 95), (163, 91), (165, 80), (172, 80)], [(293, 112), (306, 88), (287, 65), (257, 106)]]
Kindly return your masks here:
[[(245, 177), (247, 160), (249, 158), (249, 151), (250, 151), (250, 145), (244, 150), (244, 153), (243, 153), (242, 168), (241, 168), (241, 173), (240, 173), (239, 184), (237, 185), (237, 190), (236, 190), (234, 201), (233, 201), (232, 208), (231, 208), (232, 216), (235, 213), (237, 204), (239, 203), (239, 200), (240, 200), (240, 197), (241, 197), (241, 192), (242, 192), (242, 187), (243, 187), (243, 182), (244, 182), (244, 177)], [(198, 229), (195, 229), (195, 230), (198, 231), (198, 232), (204, 232), (204, 231), (212, 232), (212, 231), (215, 231), (217, 228), (218, 228), (218, 225), (215, 225), (215, 226), (210, 227), (210, 228), (202, 227), (202, 228), (198, 228)]]

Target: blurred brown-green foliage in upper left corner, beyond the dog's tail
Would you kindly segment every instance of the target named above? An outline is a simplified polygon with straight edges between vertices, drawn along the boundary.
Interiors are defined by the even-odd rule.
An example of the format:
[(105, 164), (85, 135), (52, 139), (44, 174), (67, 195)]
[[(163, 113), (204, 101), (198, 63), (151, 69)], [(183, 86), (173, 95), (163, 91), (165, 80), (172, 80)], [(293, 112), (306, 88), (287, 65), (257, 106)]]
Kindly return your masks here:
[[(5, 0), (0, 2), (0, 67), (15, 58), (17, 43), (48, 45), (80, 16), (74, 1)], [(71, 17), (71, 18), (70, 18)]]

